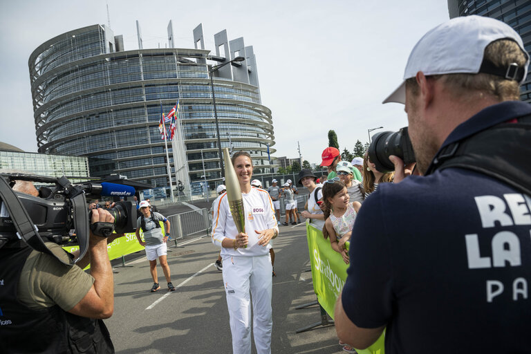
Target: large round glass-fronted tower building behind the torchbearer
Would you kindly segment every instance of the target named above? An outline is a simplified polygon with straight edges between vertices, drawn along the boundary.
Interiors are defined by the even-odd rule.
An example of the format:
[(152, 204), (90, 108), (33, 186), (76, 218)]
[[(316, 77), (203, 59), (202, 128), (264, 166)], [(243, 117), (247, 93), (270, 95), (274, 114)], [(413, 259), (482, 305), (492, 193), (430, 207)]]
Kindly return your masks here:
[[(179, 100), (184, 151), (175, 153), (187, 161), (188, 182), (206, 178), (213, 187), (221, 168), (209, 70), (241, 56), (242, 62), (214, 71), (221, 147), (250, 151), (257, 174), (272, 172), (272, 115), (261, 104), (252, 46), (243, 38), (229, 41), (223, 30), (214, 35), (213, 55), (205, 49), (201, 24), (193, 31), (194, 48), (175, 48), (171, 21), (167, 34), (167, 48), (144, 49), (137, 21), (138, 49), (125, 50), (122, 35), (97, 24), (36, 48), (28, 65), (38, 151), (86, 156), (91, 176), (116, 173), (167, 187), (160, 103), (167, 114)], [(171, 170), (175, 183), (173, 163)]]

